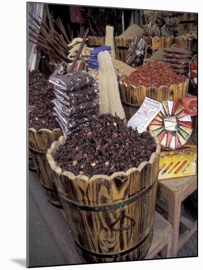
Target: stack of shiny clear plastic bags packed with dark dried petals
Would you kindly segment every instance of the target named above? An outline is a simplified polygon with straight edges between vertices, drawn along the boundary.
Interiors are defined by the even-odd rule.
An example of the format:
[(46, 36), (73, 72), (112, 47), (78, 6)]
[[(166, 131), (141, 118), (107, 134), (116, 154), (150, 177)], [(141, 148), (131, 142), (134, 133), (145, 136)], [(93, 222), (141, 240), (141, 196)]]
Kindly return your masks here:
[(56, 99), (54, 115), (63, 130), (64, 137), (77, 131), (95, 118), (99, 111), (98, 85), (87, 72), (68, 73), (50, 80), (54, 84)]

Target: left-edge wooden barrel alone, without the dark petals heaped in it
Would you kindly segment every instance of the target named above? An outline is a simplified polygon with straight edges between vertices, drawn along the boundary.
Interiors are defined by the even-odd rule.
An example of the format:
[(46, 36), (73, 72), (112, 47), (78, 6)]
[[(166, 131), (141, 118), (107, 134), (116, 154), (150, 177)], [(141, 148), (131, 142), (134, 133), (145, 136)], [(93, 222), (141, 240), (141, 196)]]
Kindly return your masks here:
[(40, 129), (36, 131), (29, 128), (29, 155), (31, 156), (34, 167), (40, 176), (40, 182), (45, 190), (47, 199), (51, 204), (61, 208), (58, 193), (53, 181), (53, 173), (47, 162), (47, 149), (51, 147), (51, 143), (62, 135), (61, 129)]

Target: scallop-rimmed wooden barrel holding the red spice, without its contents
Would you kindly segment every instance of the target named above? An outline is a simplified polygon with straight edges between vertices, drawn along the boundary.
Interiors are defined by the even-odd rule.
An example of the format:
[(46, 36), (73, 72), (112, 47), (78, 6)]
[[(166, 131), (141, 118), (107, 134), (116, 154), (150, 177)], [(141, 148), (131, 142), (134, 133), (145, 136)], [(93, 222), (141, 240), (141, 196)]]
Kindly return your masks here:
[(178, 85), (173, 84), (170, 87), (160, 86), (156, 87), (134, 86), (127, 84), (120, 80), (120, 96), (123, 108), (125, 110), (127, 121), (133, 116), (133, 114), (140, 108), (146, 97), (153, 100), (162, 102), (165, 100), (176, 100), (187, 97), (189, 79), (184, 83), (181, 82)]

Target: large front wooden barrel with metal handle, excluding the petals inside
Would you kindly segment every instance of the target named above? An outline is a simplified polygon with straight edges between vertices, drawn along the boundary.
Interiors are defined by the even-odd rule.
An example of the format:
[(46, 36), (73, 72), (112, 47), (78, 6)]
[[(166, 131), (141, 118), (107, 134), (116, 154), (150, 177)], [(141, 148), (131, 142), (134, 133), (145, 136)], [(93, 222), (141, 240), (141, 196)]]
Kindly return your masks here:
[(143, 259), (152, 243), (152, 227), (159, 169), (160, 145), (149, 162), (110, 177), (62, 172), (53, 157), (61, 136), (51, 144), (47, 159), (70, 223), (78, 253), (84, 262)]

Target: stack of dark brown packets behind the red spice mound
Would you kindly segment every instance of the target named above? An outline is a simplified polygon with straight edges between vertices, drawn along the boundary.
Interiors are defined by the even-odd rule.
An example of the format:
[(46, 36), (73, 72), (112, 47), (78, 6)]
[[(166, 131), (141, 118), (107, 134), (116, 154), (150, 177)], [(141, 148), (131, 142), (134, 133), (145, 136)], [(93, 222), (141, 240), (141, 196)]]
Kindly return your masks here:
[(192, 58), (191, 51), (175, 47), (166, 48), (163, 51), (163, 61), (168, 63), (176, 73), (188, 73), (189, 62)]

